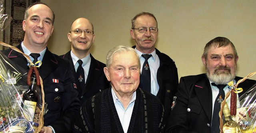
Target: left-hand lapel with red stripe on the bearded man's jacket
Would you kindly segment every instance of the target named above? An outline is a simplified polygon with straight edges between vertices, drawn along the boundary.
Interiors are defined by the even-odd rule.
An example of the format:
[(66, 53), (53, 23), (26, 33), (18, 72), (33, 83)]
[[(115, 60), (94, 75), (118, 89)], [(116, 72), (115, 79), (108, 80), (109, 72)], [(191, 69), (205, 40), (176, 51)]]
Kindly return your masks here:
[[(201, 80), (194, 85), (196, 95), (208, 116), (208, 119), (212, 120), (212, 89), (208, 79)], [(210, 101), (210, 102), (209, 102)]]

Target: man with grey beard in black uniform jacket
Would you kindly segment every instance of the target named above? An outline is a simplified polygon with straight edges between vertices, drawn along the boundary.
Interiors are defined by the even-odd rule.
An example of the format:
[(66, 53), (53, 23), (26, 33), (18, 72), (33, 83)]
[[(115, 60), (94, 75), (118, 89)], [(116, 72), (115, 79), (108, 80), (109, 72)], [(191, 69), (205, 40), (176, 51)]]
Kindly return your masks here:
[[(218, 118), (220, 109), (216, 108), (220, 108), (224, 94), (230, 91), (226, 84), (230, 81), (235, 84), (242, 79), (242, 77), (236, 77), (237, 61), (236, 48), (227, 38), (217, 37), (206, 44), (202, 55), (206, 74), (180, 78), (166, 127), (168, 133), (220, 132)], [(240, 83), (238, 87), (242, 87), (244, 91), (238, 93), (238, 97), (255, 83), (255, 80), (250, 79)], [(220, 95), (216, 86), (223, 84), (225, 86), (223, 90), (219, 87), (220, 92), (224, 91)], [(230, 105), (230, 96), (226, 102)]]

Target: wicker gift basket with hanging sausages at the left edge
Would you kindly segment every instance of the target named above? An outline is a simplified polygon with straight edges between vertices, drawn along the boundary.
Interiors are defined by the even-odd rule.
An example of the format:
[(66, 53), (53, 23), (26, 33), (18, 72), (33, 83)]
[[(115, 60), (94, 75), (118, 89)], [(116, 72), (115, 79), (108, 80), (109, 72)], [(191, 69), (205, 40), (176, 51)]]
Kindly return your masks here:
[[(4, 42), (0, 42), (0, 44), (1, 45), (3, 45), (3, 46), (6, 46), (6, 47), (9, 47), (9, 48), (12, 48), (13, 50), (15, 50), (15, 51), (17, 51), (17, 52), (19, 52), (19, 53), (21, 53), (28, 61), (29, 61), (29, 66), (30, 66), (30, 70), (29, 70), (29, 72), (28, 72), (28, 74), (27, 74), (27, 79), (26, 79), (26, 81), (27, 81), (27, 84), (28, 84), (28, 86), (30, 86), (30, 84), (31, 84), (31, 81), (30, 81), (30, 77), (31, 77), (31, 73), (32, 72), (34, 72), (35, 73), (35, 75), (36, 75), (36, 85), (38, 85), (38, 86), (40, 86), (40, 89), (41, 89), (41, 95), (42, 95), (42, 101), (40, 101), (41, 103), (42, 103), (42, 107), (36, 107), (36, 109), (35, 109), (35, 113), (34, 113), (34, 120), (33, 120), (33, 122), (32, 123), (38, 123), (38, 125), (36, 125), (36, 127), (37, 128), (35, 128), (31, 123), (29, 124), (29, 125), (27, 125), (27, 127), (29, 128), (33, 128), (33, 130), (31, 131), (27, 131), (26, 129), (24, 129), (24, 131), (26, 132), (26, 133), (32, 133), (32, 132), (34, 132), (34, 133), (39, 133), (40, 132), (40, 130), (41, 130), (41, 128), (43, 127), (43, 125), (44, 125), (44, 110), (45, 110), (45, 102), (44, 102), (44, 88), (43, 88), (43, 81), (42, 81), (42, 78), (40, 77), (40, 75), (39, 75), (39, 72), (38, 72), (38, 69), (37, 69), (37, 66), (35, 65), (35, 64), (33, 64), (32, 63), (32, 61), (30, 60), (30, 58), (26, 55), (26, 54), (24, 54), (24, 53), (22, 53), (18, 48), (16, 48), (16, 47), (13, 47), (13, 46), (10, 46), (10, 45), (8, 45), (8, 44), (5, 44)], [(1, 72), (1, 71), (0, 71)], [(1, 76), (1, 73), (0, 73), (0, 76)], [(3, 80), (3, 82), (4, 82), (4, 79), (2, 79)], [(11, 88), (11, 89), (15, 89), (15, 91), (17, 91), (17, 89), (15, 88), (15, 87), (13, 87), (13, 88)], [(2, 90), (2, 88), (1, 88), (1, 90)], [(2, 92), (2, 91), (1, 91)], [(16, 94), (15, 94), (16, 95)], [(18, 94), (19, 95), (19, 94)], [(22, 94), (21, 94), (22, 95)], [(21, 95), (19, 95), (18, 97), (22, 97)], [(9, 95), (7, 95), (6, 96), (6, 99), (8, 99), (8, 98), (10, 98), (10, 96)], [(6, 100), (4, 100), (4, 101), (6, 101)], [(18, 101), (18, 100), (16, 100), (16, 101)], [(6, 103), (6, 102), (5, 102)], [(12, 102), (12, 103), (14, 103), (14, 102)], [(10, 104), (12, 104), (12, 103), (10, 103)], [(2, 104), (1, 104), (2, 105)], [(0, 105), (0, 107), (2, 107)], [(10, 107), (6, 107), (6, 108), (8, 108), (8, 110), (10, 110), (10, 109), (12, 109), (12, 107), (13, 107), (13, 105), (11, 105)], [(17, 109), (17, 108), (16, 108)], [(21, 113), (20, 115), (20, 117), (22, 117), (22, 118), (24, 118), (24, 119), (27, 119), (28, 120), (28, 118), (27, 118), (27, 116), (28, 116), (28, 113), (26, 113), (26, 111), (25, 111), (25, 109), (24, 109), (24, 107), (22, 108), (22, 107), (18, 107), (18, 110), (20, 110), (19, 111), (19, 113)], [(2, 112), (0, 112), (0, 113), (2, 113)], [(17, 114), (19, 114), (19, 113), (17, 113)], [(25, 115), (25, 113), (26, 113), (26, 115)], [(3, 119), (5, 120), (5, 119), (9, 119), (9, 123), (3, 123), (3, 122), (6, 122), (6, 121), (4, 121), (3, 119), (1, 119), (1, 121), (0, 121), (0, 125), (2, 124), (2, 131), (0, 131), (0, 132), (2, 132), (2, 133), (5, 133), (5, 132), (8, 132), (8, 130), (10, 131), (11, 130), (11, 128), (14, 128), (16, 125), (13, 125), (13, 121), (14, 120), (16, 120), (17, 121), (17, 119), (20, 119), (20, 117), (18, 117), (17, 116), (17, 114), (15, 115), (16, 116), (16, 118), (8, 118), (8, 116), (10, 116), (10, 113), (8, 114), (8, 116), (5, 116)], [(18, 118), (17, 118), (18, 117)], [(19, 120), (18, 121), (18, 123), (20, 123), (20, 121), (21, 120)], [(24, 120), (25, 121), (25, 120)], [(11, 126), (10, 126), (11, 125)], [(16, 126), (17, 127), (17, 126)], [(23, 127), (24, 128), (24, 127)], [(26, 128), (26, 127), (25, 127)], [(17, 133), (24, 133), (24, 131), (21, 131), (21, 132), (17, 132)]]

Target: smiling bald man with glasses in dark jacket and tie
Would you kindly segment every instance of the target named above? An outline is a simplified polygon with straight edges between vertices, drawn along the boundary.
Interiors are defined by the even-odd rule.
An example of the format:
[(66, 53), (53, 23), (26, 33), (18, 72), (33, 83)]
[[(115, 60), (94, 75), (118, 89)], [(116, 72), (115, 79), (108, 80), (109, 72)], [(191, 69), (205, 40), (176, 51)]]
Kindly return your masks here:
[(94, 39), (95, 34), (90, 20), (78, 18), (72, 23), (70, 32), (68, 32), (71, 50), (60, 56), (68, 59), (72, 64), (80, 105), (96, 93), (110, 87), (110, 82), (103, 71), (106, 65), (90, 54)]

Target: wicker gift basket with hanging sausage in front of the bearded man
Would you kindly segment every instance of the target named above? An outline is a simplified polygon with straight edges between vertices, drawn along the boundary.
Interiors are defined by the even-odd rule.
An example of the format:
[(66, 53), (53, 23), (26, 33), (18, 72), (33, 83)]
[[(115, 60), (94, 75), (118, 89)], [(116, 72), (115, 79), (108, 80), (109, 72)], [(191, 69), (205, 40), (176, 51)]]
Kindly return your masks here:
[[(232, 115), (232, 119), (238, 123), (242, 133), (256, 133), (256, 85), (253, 85), (246, 93), (239, 97), (239, 101), (237, 101), (236, 98), (236, 93), (240, 93), (243, 91), (242, 88), (237, 88), (238, 84), (254, 76), (255, 74), (256, 72), (249, 73), (246, 77), (240, 79), (235, 85), (228, 84), (231, 87), (231, 90), (225, 95), (225, 98), (221, 103), (219, 112), (220, 133), (223, 133), (222, 111), (226, 99), (230, 96), (230, 94), (230, 114)], [(240, 107), (236, 107), (237, 102), (239, 102)]]

